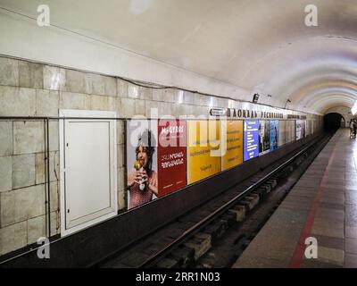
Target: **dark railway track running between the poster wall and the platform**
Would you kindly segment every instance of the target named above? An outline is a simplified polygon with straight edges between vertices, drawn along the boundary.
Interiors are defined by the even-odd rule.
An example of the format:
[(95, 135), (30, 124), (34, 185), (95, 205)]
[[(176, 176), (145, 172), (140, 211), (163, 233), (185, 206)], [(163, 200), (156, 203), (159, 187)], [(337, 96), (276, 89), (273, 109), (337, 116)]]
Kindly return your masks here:
[[(225, 190), (94, 266), (228, 267), (253, 240), (330, 138), (331, 135), (325, 134), (312, 140), (236, 187)], [(286, 179), (288, 175), (289, 179)], [(277, 189), (279, 191), (276, 192)], [(228, 240), (233, 241), (235, 251), (232, 251)]]

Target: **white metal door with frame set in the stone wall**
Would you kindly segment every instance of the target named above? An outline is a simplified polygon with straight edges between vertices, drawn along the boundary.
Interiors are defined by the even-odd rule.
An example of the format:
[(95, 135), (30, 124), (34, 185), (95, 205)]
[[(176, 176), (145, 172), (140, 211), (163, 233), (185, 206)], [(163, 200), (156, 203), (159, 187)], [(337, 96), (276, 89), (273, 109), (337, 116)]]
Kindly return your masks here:
[(117, 214), (116, 114), (62, 110), (60, 117), (63, 236)]

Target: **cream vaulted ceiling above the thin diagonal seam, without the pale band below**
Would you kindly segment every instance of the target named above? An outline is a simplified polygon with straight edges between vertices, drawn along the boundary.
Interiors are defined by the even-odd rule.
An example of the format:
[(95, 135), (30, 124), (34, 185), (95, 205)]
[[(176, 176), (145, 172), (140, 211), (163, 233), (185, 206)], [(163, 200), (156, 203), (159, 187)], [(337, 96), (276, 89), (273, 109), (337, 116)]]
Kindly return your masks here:
[[(1, 7), (34, 19), (38, 4), (43, 1), (0, 0)], [(241, 99), (252, 100), (258, 92), (261, 103), (320, 114), (333, 106), (351, 107), (357, 99), (355, 0), (46, 4), (55, 26), (244, 88), (248, 92)], [(304, 24), (307, 4), (318, 8), (318, 27)], [(194, 80), (188, 85), (195, 89)]]

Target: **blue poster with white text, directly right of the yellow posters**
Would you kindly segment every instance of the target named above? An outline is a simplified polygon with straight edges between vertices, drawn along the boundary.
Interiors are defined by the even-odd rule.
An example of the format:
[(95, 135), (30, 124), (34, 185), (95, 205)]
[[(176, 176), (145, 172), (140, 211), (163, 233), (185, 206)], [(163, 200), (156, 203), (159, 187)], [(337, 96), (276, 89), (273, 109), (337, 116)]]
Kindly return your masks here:
[(245, 161), (259, 154), (259, 121), (245, 120)]

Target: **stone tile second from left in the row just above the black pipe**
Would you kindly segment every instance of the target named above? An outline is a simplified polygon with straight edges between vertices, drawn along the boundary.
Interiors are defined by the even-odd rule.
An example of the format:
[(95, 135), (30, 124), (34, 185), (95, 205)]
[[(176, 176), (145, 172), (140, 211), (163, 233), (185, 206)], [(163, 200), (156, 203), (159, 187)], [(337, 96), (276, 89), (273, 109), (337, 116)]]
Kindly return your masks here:
[(36, 90), (36, 115), (37, 116), (58, 116), (58, 105), (60, 95), (58, 91)]

